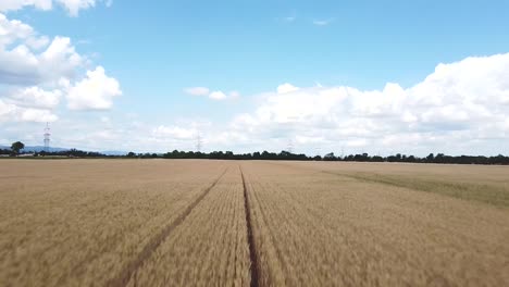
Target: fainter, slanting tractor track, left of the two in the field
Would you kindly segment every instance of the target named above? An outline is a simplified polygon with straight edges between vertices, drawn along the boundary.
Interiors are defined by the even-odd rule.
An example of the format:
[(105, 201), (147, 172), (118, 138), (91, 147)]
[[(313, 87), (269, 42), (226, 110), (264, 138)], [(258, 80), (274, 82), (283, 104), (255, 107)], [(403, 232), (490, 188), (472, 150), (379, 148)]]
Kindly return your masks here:
[(193, 210), (198, 205), (201, 200), (210, 192), (212, 188), (223, 178), (228, 169), (226, 167), (224, 172), (209, 186), (195, 200), (193, 203), (187, 207), (187, 209), (173, 221), (170, 225), (164, 227), (157, 236), (152, 237), (150, 241), (144, 247), (141, 252), (131, 261), (115, 277), (108, 280), (105, 286), (126, 286), (133, 275), (144, 265), (150, 255), (158, 249), (158, 247), (170, 236), (170, 234), (181, 225), (186, 217), (193, 212)]

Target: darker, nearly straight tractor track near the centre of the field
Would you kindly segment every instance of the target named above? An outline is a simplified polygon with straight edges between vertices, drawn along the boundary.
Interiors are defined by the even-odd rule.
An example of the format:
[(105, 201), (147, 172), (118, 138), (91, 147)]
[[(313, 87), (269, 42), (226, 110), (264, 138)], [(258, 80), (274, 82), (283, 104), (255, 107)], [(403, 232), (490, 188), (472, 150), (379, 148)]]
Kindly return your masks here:
[(238, 166), (240, 170), (240, 176), (243, 177), (243, 188), (244, 188), (244, 208), (246, 211), (246, 225), (247, 225), (247, 233), (248, 233), (248, 245), (249, 245), (249, 259), (251, 261), (251, 265), (249, 267), (250, 275), (251, 275), (251, 287), (260, 286), (260, 260), (258, 259), (257, 249), (254, 246), (254, 236), (252, 234), (252, 221), (251, 221), (251, 208), (249, 205), (249, 196), (246, 187), (246, 179), (244, 177), (244, 172), (240, 165)]

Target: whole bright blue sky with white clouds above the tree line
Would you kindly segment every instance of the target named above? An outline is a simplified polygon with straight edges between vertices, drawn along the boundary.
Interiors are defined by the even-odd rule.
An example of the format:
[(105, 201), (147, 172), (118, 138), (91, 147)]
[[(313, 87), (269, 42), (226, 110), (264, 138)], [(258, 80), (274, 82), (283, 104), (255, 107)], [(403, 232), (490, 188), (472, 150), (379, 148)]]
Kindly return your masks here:
[[(508, 1), (5, 0), (0, 141), (40, 144), (49, 121), (52, 145), (95, 150), (194, 149), (201, 134), (207, 150), (508, 153)], [(5, 76), (30, 78), (7, 54), (24, 45), (44, 59), (57, 36), (79, 63), (67, 50), (35, 64), (65, 66), (51, 78)], [(58, 103), (30, 105), (34, 87)]]

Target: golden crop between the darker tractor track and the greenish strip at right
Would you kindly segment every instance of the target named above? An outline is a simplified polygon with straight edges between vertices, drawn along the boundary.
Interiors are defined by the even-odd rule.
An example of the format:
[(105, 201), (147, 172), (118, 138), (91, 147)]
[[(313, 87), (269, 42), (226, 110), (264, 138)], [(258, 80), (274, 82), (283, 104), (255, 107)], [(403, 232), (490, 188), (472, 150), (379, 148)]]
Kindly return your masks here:
[(509, 282), (507, 210), (307, 167), (244, 165), (263, 285)]

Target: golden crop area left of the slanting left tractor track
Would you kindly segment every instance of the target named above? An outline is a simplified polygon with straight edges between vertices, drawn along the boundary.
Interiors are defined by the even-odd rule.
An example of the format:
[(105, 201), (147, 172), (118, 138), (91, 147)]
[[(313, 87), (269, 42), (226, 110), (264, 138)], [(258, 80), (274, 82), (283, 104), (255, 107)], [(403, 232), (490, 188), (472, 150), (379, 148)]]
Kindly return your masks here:
[[(24, 171), (27, 177), (53, 176), (45, 189), (26, 180), (2, 191), (0, 229), (9, 233), (0, 237), (0, 280), (11, 286), (105, 284), (224, 171), (214, 164), (141, 163), (96, 174), (95, 169), (75, 173), (55, 164), (62, 164), (51, 171), (62, 173), (57, 176)], [(91, 167), (103, 164), (110, 163)], [(76, 180), (82, 174), (89, 178)]]

